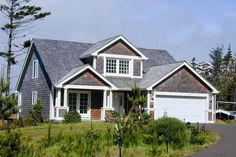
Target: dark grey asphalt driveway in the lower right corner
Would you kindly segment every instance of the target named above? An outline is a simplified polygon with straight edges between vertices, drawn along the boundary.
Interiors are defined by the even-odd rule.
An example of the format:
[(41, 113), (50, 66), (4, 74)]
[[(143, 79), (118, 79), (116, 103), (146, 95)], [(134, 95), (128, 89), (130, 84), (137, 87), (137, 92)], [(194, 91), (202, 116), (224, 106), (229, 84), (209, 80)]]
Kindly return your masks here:
[(207, 129), (220, 134), (221, 139), (216, 145), (194, 154), (192, 157), (235, 157), (236, 156), (236, 125), (207, 125)]

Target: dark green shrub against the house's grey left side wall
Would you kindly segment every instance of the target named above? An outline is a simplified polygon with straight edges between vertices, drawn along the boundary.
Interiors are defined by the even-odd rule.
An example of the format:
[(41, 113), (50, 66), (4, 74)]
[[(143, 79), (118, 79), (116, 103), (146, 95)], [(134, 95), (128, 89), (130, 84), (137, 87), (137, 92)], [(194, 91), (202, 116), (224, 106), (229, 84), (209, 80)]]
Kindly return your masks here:
[(29, 122), (31, 125), (37, 125), (44, 121), (42, 115), (43, 105), (37, 100), (37, 103), (34, 105), (32, 110), (29, 110)]

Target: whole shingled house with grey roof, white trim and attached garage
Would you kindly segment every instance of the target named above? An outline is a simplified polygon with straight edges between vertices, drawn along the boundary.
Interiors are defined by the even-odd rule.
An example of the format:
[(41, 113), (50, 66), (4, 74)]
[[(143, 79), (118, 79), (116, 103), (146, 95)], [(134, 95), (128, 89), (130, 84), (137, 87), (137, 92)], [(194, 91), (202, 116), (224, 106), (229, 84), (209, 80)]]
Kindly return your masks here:
[(16, 87), (19, 116), (27, 116), (36, 100), (51, 120), (69, 110), (83, 120), (104, 120), (110, 110), (123, 115), (134, 83), (155, 119), (214, 122), (218, 91), (207, 80), (167, 51), (136, 48), (121, 35), (97, 43), (32, 39)]

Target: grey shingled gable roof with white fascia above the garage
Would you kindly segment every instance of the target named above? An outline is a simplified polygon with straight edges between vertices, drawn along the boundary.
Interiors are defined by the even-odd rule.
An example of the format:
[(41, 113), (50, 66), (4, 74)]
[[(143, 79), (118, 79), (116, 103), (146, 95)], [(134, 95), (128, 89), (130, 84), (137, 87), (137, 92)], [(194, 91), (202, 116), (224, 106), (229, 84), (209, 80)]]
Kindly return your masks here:
[[(144, 77), (140, 85), (145, 86), (147, 90), (152, 90), (154, 86), (156, 86), (158, 83), (160, 83), (161, 81), (171, 76), (173, 73), (175, 73), (182, 67), (187, 67), (204, 84), (206, 84), (212, 90), (213, 93), (216, 93), (216, 94), (219, 93), (219, 91), (214, 86), (212, 86), (204, 77), (202, 77), (199, 73), (197, 73), (187, 62), (177, 62), (173, 64), (167, 64), (167, 65), (150, 68), (150, 70), (148, 71), (147, 75)], [(153, 79), (153, 81), (151, 81), (151, 79)], [(146, 84), (148, 84), (149, 86), (147, 87)]]

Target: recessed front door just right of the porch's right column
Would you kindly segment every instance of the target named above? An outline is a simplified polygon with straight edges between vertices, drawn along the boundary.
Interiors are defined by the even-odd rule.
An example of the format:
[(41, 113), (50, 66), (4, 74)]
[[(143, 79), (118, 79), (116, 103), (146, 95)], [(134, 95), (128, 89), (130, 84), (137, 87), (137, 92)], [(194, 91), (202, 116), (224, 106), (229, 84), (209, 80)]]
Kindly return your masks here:
[(113, 93), (113, 107), (120, 116), (123, 116), (125, 113), (124, 109), (124, 93)]

